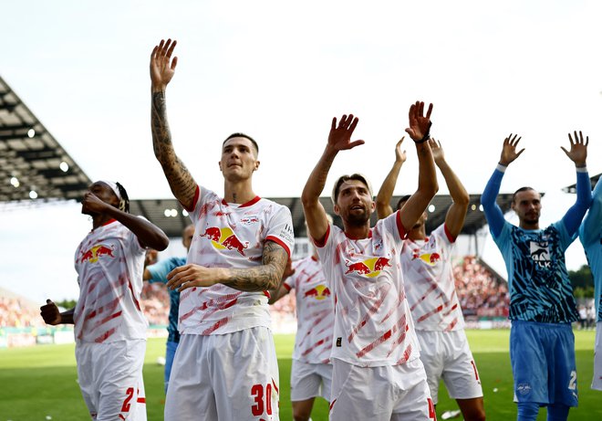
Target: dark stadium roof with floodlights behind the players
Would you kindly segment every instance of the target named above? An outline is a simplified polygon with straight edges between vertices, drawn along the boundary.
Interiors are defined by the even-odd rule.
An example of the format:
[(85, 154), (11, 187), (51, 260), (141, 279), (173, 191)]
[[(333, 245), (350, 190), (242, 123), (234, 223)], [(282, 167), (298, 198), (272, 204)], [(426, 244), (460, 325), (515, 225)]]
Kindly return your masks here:
[[(23, 101), (0, 77), (0, 210), (22, 205), (79, 201), (91, 184), (78, 163), (61, 147), (47, 128), (37, 120)], [(35, 192), (35, 193), (32, 193)], [(474, 234), (486, 224), (480, 210), (480, 195), (471, 195), (463, 234)], [(297, 236), (306, 237), (305, 217), (298, 197), (273, 198), (291, 210)], [(322, 197), (322, 205), (334, 216), (330, 199)], [(399, 196), (391, 199), (395, 206)], [(510, 209), (512, 195), (499, 195), (503, 212)], [(436, 196), (429, 212), (427, 229), (439, 226), (452, 200), (449, 195)], [(160, 226), (169, 237), (180, 237), (190, 219), (174, 198), (131, 200), (130, 212), (145, 216)], [(376, 222), (376, 215), (372, 223)], [(341, 226), (340, 218), (335, 223)]]

